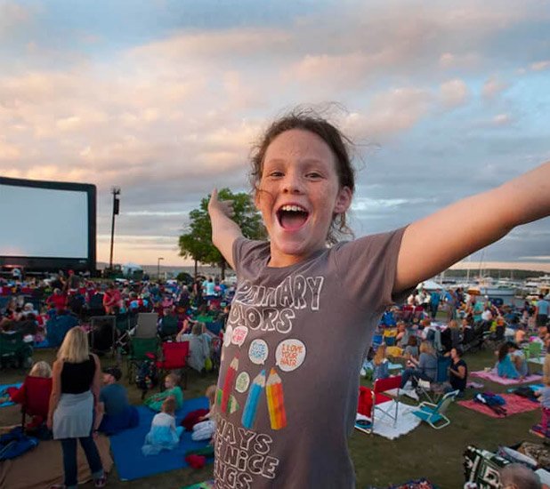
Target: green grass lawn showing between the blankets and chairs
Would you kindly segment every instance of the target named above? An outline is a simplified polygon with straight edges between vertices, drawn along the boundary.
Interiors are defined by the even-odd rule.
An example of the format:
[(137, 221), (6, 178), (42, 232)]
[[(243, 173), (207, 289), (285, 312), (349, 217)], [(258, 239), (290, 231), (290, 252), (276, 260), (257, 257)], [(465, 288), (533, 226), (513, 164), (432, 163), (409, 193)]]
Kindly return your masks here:
[[(34, 360), (53, 362), (53, 349), (36, 350)], [(465, 355), (470, 371), (481, 370), (494, 363), (493, 353), (481, 351)], [(113, 363), (110, 357), (101, 358), (101, 364)], [(24, 371), (4, 370), (0, 372), (1, 383), (22, 381)], [(208, 385), (215, 383), (216, 376), (201, 376), (191, 372), (188, 389), (184, 391), (187, 398), (203, 396)], [(123, 382), (127, 385), (127, 380)], [(505, 392), (507, 386), (485, 382), (485, 390)], [(133, 404), (141, 403), (141, 392), (128, 386)], [(473, 397), (473, 390), (466, 398)], [(493, 419), (481, 413), (475, 413), (460, 405), (451, 405), (448, 411), (451, 424), (444, 429), (435, 430), (424, 423), (417, 429), (390, 441), (376, 435), (366, 435), (355, 430), (350, 439), (350, 451), (357, 473), (357, 486), (368, 485), (384, 487), (398, 484), (412, 478), (426, 477), (443, 489), (462, 487), (464, 484), (462, 453), (467, 445), (493, 450), (497, 445), (514, 445), (522, 440), (537, 442), (539, 438), (530, 435), (530, 427), (538, 422), (538, 410), (530, 413), (515, 414), (505, 419)], [(329, 413), (328, 413), (329, 417)], [(18, 406), (0, 409), (0, 426), (20, 422)], [(322, 427), (320, 428), (322, 429)], [(299, 455), (298, 455), (299, 456)], [(212, 465), (204, 469), (180, 469), (158, 476), (147, 477), (131, 482), (121, 482), (116, 467), (109, 476), (109, 487), (132, 487), (145, 489), (152, 487), (179, 488), (212, 477)], [(89, 484), (88, 486), (92, 486)]]

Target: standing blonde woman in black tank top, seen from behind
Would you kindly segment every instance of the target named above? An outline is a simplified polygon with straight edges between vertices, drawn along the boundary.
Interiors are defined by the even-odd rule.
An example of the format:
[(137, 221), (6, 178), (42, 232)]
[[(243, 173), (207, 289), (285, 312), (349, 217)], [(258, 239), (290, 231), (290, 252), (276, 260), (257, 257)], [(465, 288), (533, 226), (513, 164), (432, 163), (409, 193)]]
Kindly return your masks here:
[(93, 418), (99, 402), (101, 365), (88, 349), (88, 337), (79, 326), (69, 330), (53, 363), (53, 388), (48, 428), (61, 440), (64, 484), (77, 487), (77, 440), (84, 449), (95, 487), (106, 484), (100, 454), (93, 441)]

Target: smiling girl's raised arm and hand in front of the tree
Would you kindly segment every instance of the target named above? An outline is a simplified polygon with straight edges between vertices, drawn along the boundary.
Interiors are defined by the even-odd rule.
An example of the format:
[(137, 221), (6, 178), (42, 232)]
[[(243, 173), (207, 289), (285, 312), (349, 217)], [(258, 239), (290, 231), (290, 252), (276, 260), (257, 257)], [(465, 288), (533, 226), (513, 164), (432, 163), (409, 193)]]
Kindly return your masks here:
[(212, 191), (208, 202), (208, 213), (212, 222), (212, 243), (220, 250), (223, 258), (235, 269), (233, 264), (233, 243), (242, 236), (239, 225), (231, 220), (233, 207), (229, 200), (219, 200), (216, 188)]

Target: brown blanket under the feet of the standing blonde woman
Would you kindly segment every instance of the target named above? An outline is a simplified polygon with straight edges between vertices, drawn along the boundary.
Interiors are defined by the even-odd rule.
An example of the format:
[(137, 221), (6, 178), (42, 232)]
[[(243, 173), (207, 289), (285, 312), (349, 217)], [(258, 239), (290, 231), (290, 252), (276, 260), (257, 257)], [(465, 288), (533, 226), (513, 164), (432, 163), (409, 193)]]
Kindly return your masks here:
[[(113, 460), (109, 453), (109, 438), (100, 436), (95, 444), (100, 452), (103, 469), (110, 472)], [(92, 480), (85, 454), (78, 444), (78, 482)], [(58, 440), (40, 441), (30, 452), (0, 463), (0, 487), (9, 489), (44, 489), (63, 482), (63, 455)]]

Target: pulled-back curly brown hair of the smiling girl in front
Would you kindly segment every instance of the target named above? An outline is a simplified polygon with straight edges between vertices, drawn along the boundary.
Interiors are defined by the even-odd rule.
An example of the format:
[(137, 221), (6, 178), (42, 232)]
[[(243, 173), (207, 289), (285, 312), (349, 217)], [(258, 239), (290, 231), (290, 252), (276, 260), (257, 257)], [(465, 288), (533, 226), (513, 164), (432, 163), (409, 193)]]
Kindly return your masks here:
[[(289, 114), (281, 116), (273, 121), (257, 144), (252, 148), (250, 155), (250, 183), (255, 193), (260, 188), (262, 180), (263, 160), (267, 148), (279, 134), (300, 129), (312, 132), (323, 140), (335, 156), (336, 174), (340, 188), (347, 187), (352, 194), (355, 190), (355, 170), (350, 158), (352, 140), (345, 136), (335, 125), (330, 124), (328, 120), (316, 114), (312, 109), (296, 108)], [(336, 213), (328, 229), (327, 243), (336, 244), (342, 235), (353, 237), (352, 229), (348, 227), (345, 212)]]

